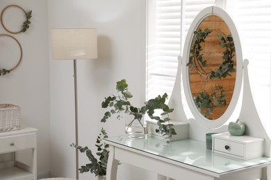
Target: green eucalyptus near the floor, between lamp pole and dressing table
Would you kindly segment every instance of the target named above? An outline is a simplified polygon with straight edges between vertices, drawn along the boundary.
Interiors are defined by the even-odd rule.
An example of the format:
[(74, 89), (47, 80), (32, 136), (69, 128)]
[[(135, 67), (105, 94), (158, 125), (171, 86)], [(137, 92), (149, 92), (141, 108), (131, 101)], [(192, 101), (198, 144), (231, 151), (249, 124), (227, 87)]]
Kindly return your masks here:
[(108, 162), (108, 156), (109, 156), (109, 145), (106, 143), (101, 142), (103, 138), (107, 138), (107, 133), (104, 128), (101, 128), (101, 133), (99, 136), (97, 136), (96, 144), (97, 152), (96, 155), (97, 158), (93, 154), (93, 152), (88, 148), (88, 146), (82, 147), (80, 145), (75, 145), (72, 143), (71, 147), (75, 147), (77, 150), (79, 150), (81, 153), (85, 153), (85, 155), (90, 160), (90, 163), (87, 163), (85, 165), (81, 165), (81, 168), (79, 168), (80, 173), (83, 172), (91, 172), (95, 174), (95, 176), (98, 176), (98, 179), (105, 179), (106, 177), (106, 167)]

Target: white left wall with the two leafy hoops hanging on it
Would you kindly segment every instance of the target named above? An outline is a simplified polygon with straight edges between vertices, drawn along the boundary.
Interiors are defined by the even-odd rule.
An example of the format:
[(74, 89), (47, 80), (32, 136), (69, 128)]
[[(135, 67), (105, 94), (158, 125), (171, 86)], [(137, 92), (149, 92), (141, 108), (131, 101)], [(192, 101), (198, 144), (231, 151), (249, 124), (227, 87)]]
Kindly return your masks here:
[[(38, 174), (47, 176), (49, 172), (49, 55), (47, 1), (40, 0), (1, 0), (0, 10), (10, 4), (22, 6), (24, 10), (33, 10), (32, 24), (26, 33), (13, 35), (22, 44), (23, 57), (20, 66), (12, 73), (0, 76), (0, 103), (13, 103), (22, 107), (22, 125), (37, 128), (38, 131)], [(17, 30), (24, 20), (20, 10), (9, 9), (13, 20), (6, 21), (6, 26)], [(18, 22), (16, 24), (15, 22)], [(0, 34), (9, 34), (0, 25)], [(9, 34), (10, 35), (10, 34)], [(5, 48), (3, 38), (0, 48)], [(7, 41), (9, 42), (9, 41)], [(0, 54), (0, 66), (12, 66), (17, 61), (19, 51), (10, 46), (7, 52)], [(16, 59), (15, 59), (16, 58)], [(8, 62), (13, 62), (8, 64)], [(6, 66), (5, 66), (6, 65)]]

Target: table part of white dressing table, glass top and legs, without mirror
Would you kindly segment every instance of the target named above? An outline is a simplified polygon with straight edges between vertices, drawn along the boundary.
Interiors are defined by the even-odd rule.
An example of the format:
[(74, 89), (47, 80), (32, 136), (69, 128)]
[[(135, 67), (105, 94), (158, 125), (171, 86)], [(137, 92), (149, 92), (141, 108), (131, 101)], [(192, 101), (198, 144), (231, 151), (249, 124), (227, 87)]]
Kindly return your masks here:
[(156, 138), (115, 136), (104, 139), (110, 145), (106, 179), (116, 180), (117, 164), (129, 163), (161, 174), (158, 179), (261, 179), (267, 180), (271, 159), (230, 159), (206, 149), (202, 141), (185, 139), (166, 143)]

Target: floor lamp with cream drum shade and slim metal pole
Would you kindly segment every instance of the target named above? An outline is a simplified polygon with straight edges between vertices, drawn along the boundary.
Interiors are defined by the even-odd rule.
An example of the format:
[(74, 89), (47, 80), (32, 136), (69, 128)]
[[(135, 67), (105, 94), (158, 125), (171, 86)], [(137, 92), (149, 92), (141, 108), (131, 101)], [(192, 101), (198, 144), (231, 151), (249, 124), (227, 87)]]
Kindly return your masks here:
[[(97, 30), (95, 28), (52, 29), (52, 57), (74, 60), (75, 143), (78, 145), (78, 103), (76, 60), (97, 58)], [(79, 179), (79, 151), (76, 149), (76, 179)]]

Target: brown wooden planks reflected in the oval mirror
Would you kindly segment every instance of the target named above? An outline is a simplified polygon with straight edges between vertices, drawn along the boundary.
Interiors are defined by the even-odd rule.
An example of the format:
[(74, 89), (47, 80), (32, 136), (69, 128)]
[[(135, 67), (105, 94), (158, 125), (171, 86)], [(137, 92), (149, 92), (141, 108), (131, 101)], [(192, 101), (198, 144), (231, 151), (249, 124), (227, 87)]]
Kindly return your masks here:
[[(204, 30), (205, 28), (215, 29), (221, 31), (225, 35), (231, 35), (231, 32), (227, 24), (220, 17), (217, 17), (215, 15), (206, 17), (202, 21), (202, 23), (199, 24), (197, 30), (199, 30), (199, 28), (201, 28), (202, 30)], [(220, 39), (217, 38), (217, 35), (219, 34), (213, 31), (208, 35), (208, 37), (206, 37), (205, 42), (201, 43), (203, 51), (200, 51), (200, 53), (203, 54), (203, 60), (207, 60), (207, 64), (204, 67), (204, 71), (206, 71), (207, 73), (211, 73), (211, 71), (216, 71), (216, 69), (223, 62), (222, 55), (224, 48), (222, 48), (219, 45)], [(233, 56), (232, 60), (234, 61), (233, 67), (234, 69), (236, 69), (235, 55)], [(192, 66), (189, 67), (189, 78), (190, 78), (190, 89), (193, 97), (197, 96), (198, 93), (202, 91), (202, 89), (205, 89), (207, 93), (211, 94), (212, 92), (211, 87), (217, 82), (217, 80), (205, 81), (206, 78), (204, 77), (204, 75), (201, 76), (197, 69), (195, 69), (195, 67)], [(233, 95), (233, 89), (236, 82), (236, 72), (231, 72), (231, 76), (227, 75), (226, 78), (221, 78), (218, 81), (220, 86), (223, 87), (225, 93), (227, 94), (226, 98), (227, 105), (223, 107), (213, 107), (213, 111), (211, 111), (211, 114), (206, 116), (206, 118), (212, 120), (220, 118), (220, 116), (222, 116), (224, 112), (227, 110), (227, 107), (229, 106), (229, 103), (231, 102), (231, 97)], [(204, 113), (202, 113), (202, 115), (204, 116)]]

